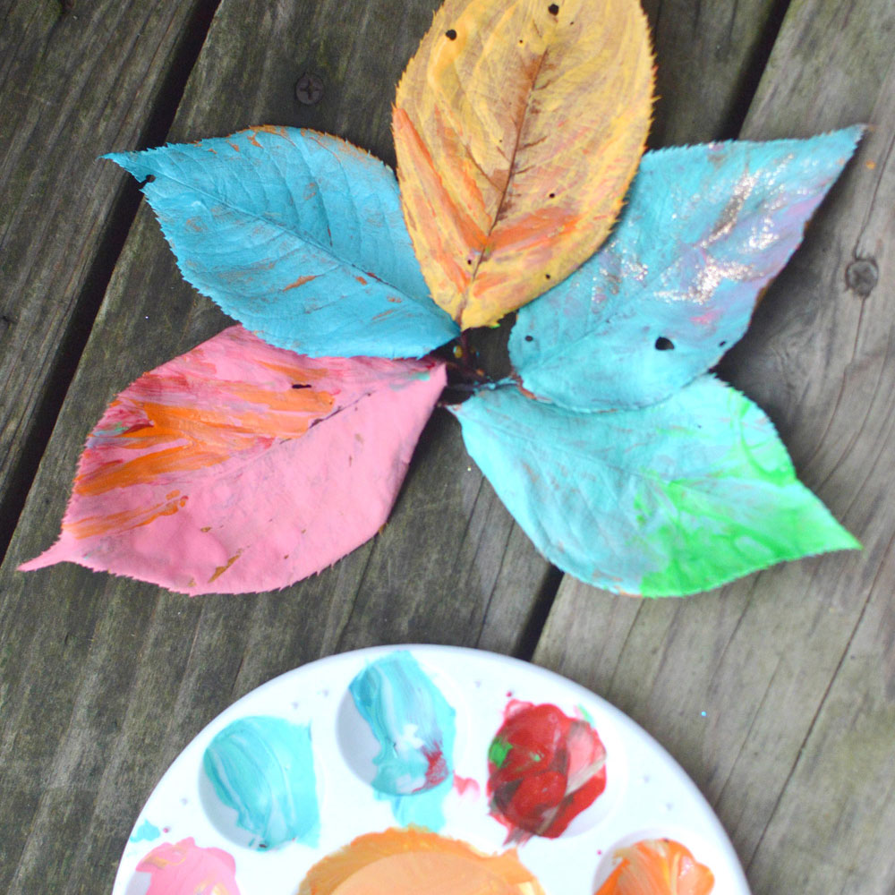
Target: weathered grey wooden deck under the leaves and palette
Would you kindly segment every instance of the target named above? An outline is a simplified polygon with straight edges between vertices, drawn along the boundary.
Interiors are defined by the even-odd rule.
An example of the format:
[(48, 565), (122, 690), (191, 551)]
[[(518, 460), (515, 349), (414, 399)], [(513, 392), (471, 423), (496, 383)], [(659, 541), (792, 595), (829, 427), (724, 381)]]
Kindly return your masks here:
[[(721, 372), (865, 544), (685, 601), (537, 553), (438, 412), (371, 543), (284, 592), (193, 600), (64, 565), (81, 445), (142, 371), (225, 318), (178, 275), (115, 149), (249, 124), (389, 163), (437, 0), (0, 4), (0, 891), (110, 891), (167, 765), (235, 698), (359, 646), (479, 646), (605, 696), (714, 805), (755, 895), (895, 891), (895, 4), (647, 0), (652, 145), (874, 125)], [(294, 85), (316, 72), (325, 95)]]

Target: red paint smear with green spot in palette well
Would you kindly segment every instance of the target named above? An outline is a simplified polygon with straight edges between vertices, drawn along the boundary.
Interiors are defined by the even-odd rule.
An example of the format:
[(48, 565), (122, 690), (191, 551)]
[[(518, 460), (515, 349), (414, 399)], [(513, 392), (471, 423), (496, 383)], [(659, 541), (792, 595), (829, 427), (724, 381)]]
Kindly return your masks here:
[(606, 749), (585, 720), (555, 705), (507, 705), (488, 750), (490, 812), (507, 842), (556, 839), (606, 788)]

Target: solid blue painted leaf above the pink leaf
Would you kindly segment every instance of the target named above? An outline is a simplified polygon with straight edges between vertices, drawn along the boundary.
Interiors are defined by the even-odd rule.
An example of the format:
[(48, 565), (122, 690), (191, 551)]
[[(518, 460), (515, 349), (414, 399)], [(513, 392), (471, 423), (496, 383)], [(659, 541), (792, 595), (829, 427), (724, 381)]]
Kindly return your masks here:
[(138, 180), (183, 277), (271, 345), (419, 357), (456, 336), (429, 298), (395, 175), (295, 128), (111, 158)]

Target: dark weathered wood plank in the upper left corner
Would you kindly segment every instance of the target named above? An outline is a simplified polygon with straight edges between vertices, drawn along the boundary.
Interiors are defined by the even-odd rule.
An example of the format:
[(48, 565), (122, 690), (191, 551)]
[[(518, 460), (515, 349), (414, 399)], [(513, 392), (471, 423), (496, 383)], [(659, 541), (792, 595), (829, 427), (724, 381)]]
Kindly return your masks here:
[[(0, 24), (0, 553), (137, 192), (98, 156), (159, 139), (214, 2), (14, 0)], [(172, 107), (166, 113), (165, 105)], [(158, 132), (159, 125), (161, 132)], [(71, 356), (73, 354), (73, 356)], [(37, 454), (35, 454), (37, 451)]]

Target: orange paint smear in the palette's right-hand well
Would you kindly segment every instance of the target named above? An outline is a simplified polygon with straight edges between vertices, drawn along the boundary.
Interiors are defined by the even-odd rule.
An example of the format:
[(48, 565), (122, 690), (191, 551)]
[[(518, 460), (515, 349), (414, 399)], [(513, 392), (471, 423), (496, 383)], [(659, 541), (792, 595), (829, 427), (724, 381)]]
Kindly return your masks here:
[(641, 840), (616, 857), (597, 895), (709, 895), (714, 888), (712, 871), (674, 840)]

